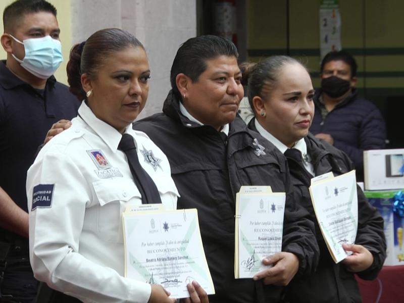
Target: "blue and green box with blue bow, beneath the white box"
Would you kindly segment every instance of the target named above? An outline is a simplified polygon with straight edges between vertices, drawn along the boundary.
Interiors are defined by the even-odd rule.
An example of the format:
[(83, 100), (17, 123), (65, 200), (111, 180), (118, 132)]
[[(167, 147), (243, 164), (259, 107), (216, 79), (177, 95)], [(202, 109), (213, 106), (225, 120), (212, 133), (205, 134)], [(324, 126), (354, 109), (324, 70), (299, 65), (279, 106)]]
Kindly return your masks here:
[(404, 219), (393, 213), (393, 197), (398, 190), (364, 191), (369, 203), (378, 209), (384, 220), (387, 258), (384, 265), (404, 265)]

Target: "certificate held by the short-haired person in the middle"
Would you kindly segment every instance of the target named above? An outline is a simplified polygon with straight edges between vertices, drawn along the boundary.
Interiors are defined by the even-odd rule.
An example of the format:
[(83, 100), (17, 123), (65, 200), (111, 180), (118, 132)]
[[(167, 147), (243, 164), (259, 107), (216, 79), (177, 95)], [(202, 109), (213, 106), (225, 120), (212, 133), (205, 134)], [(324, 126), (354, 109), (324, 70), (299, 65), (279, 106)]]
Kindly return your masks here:
[(236, 199), (234, 277), (269, 268), (262, 260), (282, 249), (286, 195), (270, 186), (242, 186)]

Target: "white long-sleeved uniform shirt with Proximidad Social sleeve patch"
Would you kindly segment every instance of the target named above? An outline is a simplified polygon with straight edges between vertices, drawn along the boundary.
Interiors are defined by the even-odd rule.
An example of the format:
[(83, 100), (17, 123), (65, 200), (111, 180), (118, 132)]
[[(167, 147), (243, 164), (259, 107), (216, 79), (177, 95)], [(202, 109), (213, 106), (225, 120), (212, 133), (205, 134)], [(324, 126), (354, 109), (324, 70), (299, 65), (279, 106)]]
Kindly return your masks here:
[[(166, 156), (129, 125), (141, 166), (166, 210), (178, 191)], [(35, 277), (84, 302), (139, 302), (150, 285), (124, 278), (121, 214), (141, 196), (123, 151), (122, 135), (83, 102), (72, 126), (40, 151), (28, 170), (31, 266)]]

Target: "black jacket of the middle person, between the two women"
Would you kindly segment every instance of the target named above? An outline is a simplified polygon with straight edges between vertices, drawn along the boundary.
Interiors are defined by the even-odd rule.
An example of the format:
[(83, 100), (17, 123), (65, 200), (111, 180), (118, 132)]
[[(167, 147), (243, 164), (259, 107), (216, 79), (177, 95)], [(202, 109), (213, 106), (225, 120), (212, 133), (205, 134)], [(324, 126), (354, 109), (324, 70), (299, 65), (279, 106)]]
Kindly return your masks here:
[[(279, 302), (284, 287), (262, 281), (234, 279), (235, 197), (241, 185), (270, 185), (286, 192), (282, 250), (299, 259), (297, 275), (311, 273), (318, 262), (314, 225), (293, 199), (287, 162), (258, 133), (237, 117), (223, 140), (212, 126), (198, 125), (180, 113), (179, 100), (170, 92), (163, 113), (134, 124), (166, 154), (181, 197), (178, 209), (196, 208), (216, 294), (211, 303)], [(262, 145), (265, 155), (255, 154)]]

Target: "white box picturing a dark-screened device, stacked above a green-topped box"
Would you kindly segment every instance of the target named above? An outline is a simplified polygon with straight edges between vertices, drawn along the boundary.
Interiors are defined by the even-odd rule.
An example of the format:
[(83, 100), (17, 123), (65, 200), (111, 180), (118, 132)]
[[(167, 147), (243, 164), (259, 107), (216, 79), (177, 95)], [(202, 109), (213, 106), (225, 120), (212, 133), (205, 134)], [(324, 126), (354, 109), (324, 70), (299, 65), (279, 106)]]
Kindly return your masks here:
[(404, 188), (404, 149), (374, 149), (363, 153), (366, 190)]

